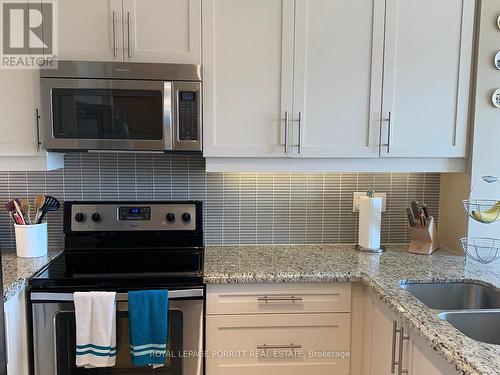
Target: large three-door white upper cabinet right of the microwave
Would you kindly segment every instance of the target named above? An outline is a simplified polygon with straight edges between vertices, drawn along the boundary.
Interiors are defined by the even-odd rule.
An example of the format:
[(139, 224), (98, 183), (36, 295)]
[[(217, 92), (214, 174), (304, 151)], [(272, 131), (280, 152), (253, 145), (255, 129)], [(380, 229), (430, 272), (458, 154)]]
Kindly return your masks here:
[(204, 1), (207, 166), (462, 170), (474, 3)]

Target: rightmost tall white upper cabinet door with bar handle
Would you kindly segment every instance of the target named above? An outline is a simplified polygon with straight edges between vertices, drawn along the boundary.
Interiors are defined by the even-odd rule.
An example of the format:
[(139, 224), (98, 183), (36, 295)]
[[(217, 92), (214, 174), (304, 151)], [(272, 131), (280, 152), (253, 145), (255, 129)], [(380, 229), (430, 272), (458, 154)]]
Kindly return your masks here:
[(474, 3), (387, 0), (381, 156), (466, 156)]

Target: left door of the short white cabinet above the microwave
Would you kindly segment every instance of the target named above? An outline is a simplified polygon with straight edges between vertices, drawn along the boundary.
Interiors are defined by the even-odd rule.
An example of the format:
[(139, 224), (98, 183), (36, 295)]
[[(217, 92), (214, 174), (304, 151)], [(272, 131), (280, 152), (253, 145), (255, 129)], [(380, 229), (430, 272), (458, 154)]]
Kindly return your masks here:
[(123, 60), (121, 0), (61, 0), (57, 6), (61, 60)]

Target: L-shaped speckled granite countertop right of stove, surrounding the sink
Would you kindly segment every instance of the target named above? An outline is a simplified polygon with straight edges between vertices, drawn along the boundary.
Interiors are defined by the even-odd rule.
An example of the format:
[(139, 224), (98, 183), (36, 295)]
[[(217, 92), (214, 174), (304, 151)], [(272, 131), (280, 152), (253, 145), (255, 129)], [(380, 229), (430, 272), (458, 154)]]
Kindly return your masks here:
[[(207, 247), (207, 283), (361, 281), (413, 326), (459, 373), (500, 374), (500, 345), (472, 340), (399, 288), (401, 280), (482, 280), (500, 288), (500, 264), (483, 266), (445, 252), (413, 255), (390, 246), (382, 255), (352, 246)], [(498, 329), (498, 327), (496, 327)]]

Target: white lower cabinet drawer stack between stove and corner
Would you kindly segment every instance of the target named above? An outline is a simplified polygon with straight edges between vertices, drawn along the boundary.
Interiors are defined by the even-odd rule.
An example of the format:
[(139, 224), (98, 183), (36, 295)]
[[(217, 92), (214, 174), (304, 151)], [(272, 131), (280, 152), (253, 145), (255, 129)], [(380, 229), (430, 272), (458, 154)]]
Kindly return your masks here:
[(207, 287), (206, 375), (348, 375), (351, 285)]

